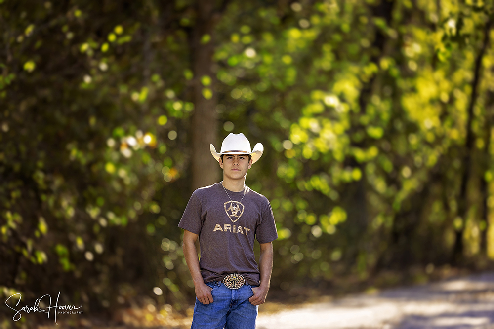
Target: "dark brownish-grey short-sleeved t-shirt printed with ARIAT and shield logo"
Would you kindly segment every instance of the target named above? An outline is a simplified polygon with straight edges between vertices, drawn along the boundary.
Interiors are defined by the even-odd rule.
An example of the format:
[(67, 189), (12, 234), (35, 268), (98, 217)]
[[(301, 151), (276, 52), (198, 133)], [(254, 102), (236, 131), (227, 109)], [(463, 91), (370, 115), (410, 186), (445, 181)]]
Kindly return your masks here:
[(245, 196), (244, 191), (227, 192), (230, 197), (221, 182), (195, 190), (178, 227), (199, 235), (204, 282), (239, 273), (258, 286), (254, 238), (259, 243), (278, 238), (273, 211), (268, 199), (249, 187)]

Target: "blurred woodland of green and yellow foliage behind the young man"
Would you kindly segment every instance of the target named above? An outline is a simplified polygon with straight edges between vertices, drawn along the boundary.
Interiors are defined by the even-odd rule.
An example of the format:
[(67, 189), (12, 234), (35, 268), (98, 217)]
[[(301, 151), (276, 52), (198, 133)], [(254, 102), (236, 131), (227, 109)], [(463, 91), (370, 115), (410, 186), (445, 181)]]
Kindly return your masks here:
[(493, 19), (477, 0), (0, 0), (1, 299), (190, 313), (177, 224), (230, 132), (265, 147), (247, 185), (280, 236), (268, 298), (492, 268)]

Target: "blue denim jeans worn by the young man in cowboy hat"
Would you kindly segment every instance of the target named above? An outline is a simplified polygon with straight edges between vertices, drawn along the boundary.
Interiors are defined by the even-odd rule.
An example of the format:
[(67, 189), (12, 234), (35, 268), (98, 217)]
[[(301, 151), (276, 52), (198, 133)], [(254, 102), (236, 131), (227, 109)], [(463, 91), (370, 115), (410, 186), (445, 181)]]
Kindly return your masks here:
[(239, 289), (227, 288), (221, 282), (208, 282), (213, 302), (205, 305), (196, 298), (191, 329), (255, 329), (257, 306), (248, 299), (254, 295), (246, 283)]

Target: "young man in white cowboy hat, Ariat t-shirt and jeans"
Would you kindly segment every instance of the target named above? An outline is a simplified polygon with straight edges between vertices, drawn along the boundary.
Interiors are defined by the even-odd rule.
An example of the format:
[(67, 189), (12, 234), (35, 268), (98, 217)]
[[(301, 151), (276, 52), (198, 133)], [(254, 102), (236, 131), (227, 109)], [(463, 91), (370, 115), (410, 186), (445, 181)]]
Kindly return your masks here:
[[(194, 281), (196, 304), (191, 329), (254, 329), (264, 303), (278, 238), (273, 211), (263, 195), (245, 185), (248, 169), (264, 150), (251, 151), (244, 134), (229, 134), (217, 153), (223, 181), (194, 191), (178, 224), (183, 252)], [(195, 242), (199, 238), (201, 260)], [(254, 238), (260, 245), (259, 266)]]

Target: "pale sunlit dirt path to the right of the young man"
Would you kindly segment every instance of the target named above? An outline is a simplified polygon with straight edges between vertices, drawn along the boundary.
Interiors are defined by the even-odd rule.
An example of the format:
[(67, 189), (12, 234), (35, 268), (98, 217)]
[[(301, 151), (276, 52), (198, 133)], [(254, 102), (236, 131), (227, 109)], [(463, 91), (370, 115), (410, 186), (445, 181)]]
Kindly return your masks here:
[(494, 329), (494, 273), (353, 295), (272, 314), (256, 329)]

